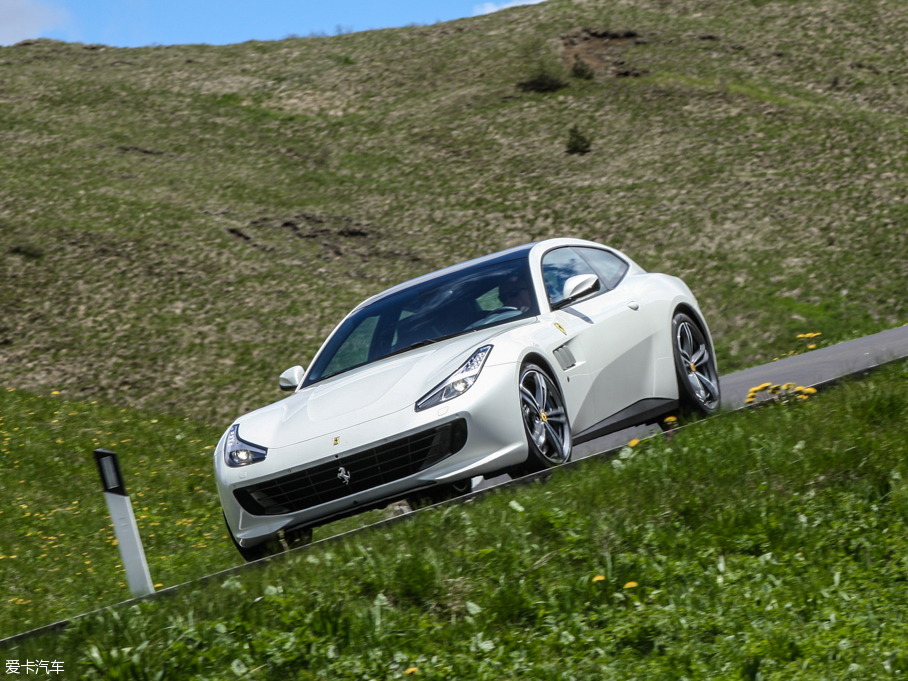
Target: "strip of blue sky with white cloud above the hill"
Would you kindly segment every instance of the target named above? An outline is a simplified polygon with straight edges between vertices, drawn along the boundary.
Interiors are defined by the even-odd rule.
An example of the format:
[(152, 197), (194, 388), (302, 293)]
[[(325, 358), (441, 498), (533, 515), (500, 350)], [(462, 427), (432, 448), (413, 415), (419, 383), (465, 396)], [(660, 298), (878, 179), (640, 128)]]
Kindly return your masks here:
[(279, 40), (433, 24), (539, 0), (0, 0), (0, 45), (29, 38), (117, 47)]

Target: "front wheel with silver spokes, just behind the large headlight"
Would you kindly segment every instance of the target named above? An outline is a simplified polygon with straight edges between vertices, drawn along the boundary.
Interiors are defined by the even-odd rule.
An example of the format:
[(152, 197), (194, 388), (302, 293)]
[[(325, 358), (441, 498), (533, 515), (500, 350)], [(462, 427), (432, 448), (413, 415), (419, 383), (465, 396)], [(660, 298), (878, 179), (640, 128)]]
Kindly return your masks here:
[(524, 471), (554, 468), (571, 460), (571, 424), (561, 390), (541, 367), (525, 364), (517, 384), (527, 437)]

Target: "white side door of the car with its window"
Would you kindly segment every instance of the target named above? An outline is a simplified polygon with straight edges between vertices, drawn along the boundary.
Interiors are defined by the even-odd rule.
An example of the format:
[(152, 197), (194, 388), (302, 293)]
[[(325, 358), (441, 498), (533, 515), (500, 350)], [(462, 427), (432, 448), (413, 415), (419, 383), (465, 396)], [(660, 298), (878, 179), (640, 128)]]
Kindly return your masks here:
[(582, 322), (577, 334), (587, 358), (590, 386), (572, 424), (575, 432), (652, 397), (651, 325), (641, 312), (633, 282), (624, 277), (626, 263), (604, 249), (586, 252), (598, 250), (562, 247), (542, 258), (550, 305), (563, 299), (563, 286), (573, 276), (595, 274), (600, 281), (599, 291), (554, 313), (573, 318), (572, 328), (578, 320)]

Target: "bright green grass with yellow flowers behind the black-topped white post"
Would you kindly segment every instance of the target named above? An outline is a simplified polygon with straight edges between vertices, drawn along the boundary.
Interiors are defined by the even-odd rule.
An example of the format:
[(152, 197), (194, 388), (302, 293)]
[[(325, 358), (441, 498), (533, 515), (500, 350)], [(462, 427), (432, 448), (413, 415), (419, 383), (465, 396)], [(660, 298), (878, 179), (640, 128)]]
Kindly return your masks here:
[[(0, 638), (130, 597), (92, 452), (119, 454), (155, 586), (243, 563), (212, 478), (220, 427), (0, 392)], [(383, 518), (366, 513), (330, 536)]]

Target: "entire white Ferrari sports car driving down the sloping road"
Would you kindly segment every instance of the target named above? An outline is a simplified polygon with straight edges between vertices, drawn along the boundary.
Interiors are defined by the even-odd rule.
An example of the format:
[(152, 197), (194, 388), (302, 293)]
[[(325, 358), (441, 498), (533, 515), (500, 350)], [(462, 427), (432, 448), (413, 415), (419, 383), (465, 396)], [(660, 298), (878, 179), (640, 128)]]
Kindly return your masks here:
[(373, 296), (280, 387), (293, 394), (238, 418), (215, 450), (224, 516), (247, 560), (344, 516), (557, 466), (574, 444), (719, 403), (690, 289), (579, 239)]

